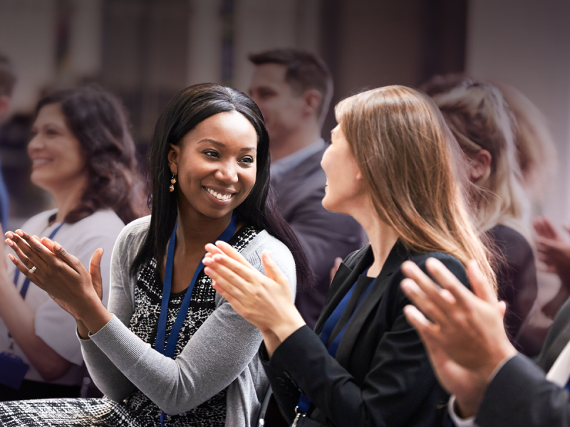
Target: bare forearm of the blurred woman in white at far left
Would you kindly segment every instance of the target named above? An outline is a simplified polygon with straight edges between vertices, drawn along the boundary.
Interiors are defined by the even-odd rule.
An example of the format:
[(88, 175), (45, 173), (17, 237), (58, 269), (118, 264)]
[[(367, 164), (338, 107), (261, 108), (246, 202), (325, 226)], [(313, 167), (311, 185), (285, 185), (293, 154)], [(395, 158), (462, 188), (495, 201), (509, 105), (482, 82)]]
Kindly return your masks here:
[(0, 285), (0, 317), (16, 344), (44, 380), (58, 379), (71, 367), (71, 362), (36, 335), (33, 312), (13, 283)]

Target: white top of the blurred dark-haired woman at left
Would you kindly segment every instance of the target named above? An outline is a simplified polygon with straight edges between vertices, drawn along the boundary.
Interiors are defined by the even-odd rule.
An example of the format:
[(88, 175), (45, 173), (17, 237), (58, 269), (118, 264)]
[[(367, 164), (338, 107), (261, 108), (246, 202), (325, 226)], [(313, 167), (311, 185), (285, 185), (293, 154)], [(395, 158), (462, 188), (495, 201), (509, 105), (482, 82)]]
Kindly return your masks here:
[[(50, 233), (59, 226), (60, 223), (48, 225), (49, 218), (56, 214), (57, 210), (45, 211), (30, 218), (21, 229), (30, 235), (48, 237)], [(101, 259), (101, 277), (103, 279), (103, 303), (107, 305), (109, 297), (110, 281), (110, 258), (113, 252), (115, 240), (123, 229), (123, 221), (110, 209), (95, 212), (74, 224), (65, 223), (59, 229), (54, 241), (76, 256), (86, 268), (89, 268), (91, 255), (97, 248), (103, 248), (103, 258)], [(6, 246), (6, 252), (15, 255), (14, 251)], [(6, 255), (7, 255), (6, 253)], [(16, 256), (17, 258), (17, 256)], [(16, 266), (8, 262), (8, 275), (14, 279)], [(19, 275), (16, 287), (21, 290), (26, 276)], [(50, 384), (61, 384), (66, 386), (80, 385), (83, 381), (83, 357), (81, 355), (81, 344), (76, 337), (76, 320), (68, 312), (63, 310), (47, 292), (41, 290), (33, 283), (29, 284), (25, 298), (26, 305), (34, 313), (34, 327), (36, 335), (43, 339), (56, 351), (63, 359), (72, 363), (71, 368), (60, 378), (49, 381)], [(26, 354), (21, 350), (14, 339), (9, 338), (8, 329), (0, 318), (0, 352), (8, 351), (10, 344), (14, 344), (13, 352), (30, 365), (25, 379), (31, 381), (46, 382), (42, 379), (38, 371), (30, 364)]]

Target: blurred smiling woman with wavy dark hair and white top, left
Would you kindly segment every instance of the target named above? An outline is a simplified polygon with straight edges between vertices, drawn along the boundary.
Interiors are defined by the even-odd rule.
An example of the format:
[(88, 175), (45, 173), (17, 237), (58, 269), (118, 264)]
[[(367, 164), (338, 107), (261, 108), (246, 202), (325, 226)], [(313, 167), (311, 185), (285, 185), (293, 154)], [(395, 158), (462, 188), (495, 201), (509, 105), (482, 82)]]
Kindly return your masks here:
[[(137, 218), (135, 144), (123, 106), (94, 85), (52, 93), (38, 102), (32, 133), (31, 181), (51, 194), (56, 209), (23, 228), (56, 236), (84, 264), (105, 249), (106, 304), (110, 252), (124, 223)], [(79, 396), (85, 369), (76, 322), (2, 258), (0, 400)]]

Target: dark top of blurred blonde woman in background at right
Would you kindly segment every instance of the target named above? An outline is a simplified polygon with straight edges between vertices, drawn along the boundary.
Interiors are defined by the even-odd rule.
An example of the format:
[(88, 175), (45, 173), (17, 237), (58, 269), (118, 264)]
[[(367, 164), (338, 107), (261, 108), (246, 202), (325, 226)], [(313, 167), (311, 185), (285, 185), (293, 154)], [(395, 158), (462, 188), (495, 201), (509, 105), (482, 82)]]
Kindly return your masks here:
[(538, 349), (524, 347), (521, 330), (524, 320), (538, 295), (537, 268), (534, 253), (527, 239), (518, 231), (507, 226), (495, 226), (487, 233), (492, 239), (504, 263), (497, 269), (499, 298), (507, 302), (504, 327), (517, 349), (527, 356), (534, 356)]

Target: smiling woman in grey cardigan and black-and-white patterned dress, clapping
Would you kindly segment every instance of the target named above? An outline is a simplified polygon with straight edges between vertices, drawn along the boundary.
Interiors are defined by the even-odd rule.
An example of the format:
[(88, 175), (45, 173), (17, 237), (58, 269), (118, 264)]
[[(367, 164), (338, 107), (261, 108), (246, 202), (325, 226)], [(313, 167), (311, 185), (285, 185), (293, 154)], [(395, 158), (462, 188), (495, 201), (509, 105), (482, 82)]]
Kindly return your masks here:
[(269, 202), (261, 112), (231, 88), (182, 90), (160, 116), (149, 159), (152, 215), (118, 238), (109, 310), (97, 292), (99, 251), (88, 273), (58, 243), (9, 235), (21, 272), (76, 316), (88, 369), (108, 399), (4, 404), (0, 421), (25, 410), (28, 426), (255, 425), (269, 384), (261, 332), (213, 290), (201, 260), (204, 245), (224, 240), (261, 271), (261, 253), (274, 253), (292, 292), (297, 277), (306, 280), (299, 242)]

